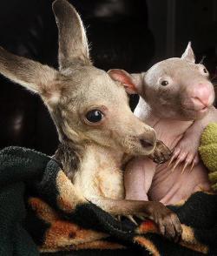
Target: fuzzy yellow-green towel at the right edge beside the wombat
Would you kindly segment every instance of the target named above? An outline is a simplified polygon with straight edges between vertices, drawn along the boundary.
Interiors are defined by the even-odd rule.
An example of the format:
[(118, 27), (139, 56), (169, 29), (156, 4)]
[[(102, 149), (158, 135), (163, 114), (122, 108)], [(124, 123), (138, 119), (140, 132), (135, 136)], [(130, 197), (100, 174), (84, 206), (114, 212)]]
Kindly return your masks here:
[(209, 170), (212, 187), (217, 191), (217, 123), (207, 125), (201, 135), (201, 159)]

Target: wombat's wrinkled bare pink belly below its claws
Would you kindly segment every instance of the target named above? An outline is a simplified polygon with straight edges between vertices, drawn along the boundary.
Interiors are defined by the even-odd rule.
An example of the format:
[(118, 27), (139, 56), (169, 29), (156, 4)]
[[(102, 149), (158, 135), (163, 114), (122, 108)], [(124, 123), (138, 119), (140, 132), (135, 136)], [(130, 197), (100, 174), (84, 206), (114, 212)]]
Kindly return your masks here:
[(190, 172), (190, 166), (181, 174), (183, 165), (171, 172), (168, 163), (156, 167), (153, 183), (148, 192), (149, 200), (161, 201), (164, 205), (187, 199), (193, 192), (211, 190), (207, 169), (199, 163)]

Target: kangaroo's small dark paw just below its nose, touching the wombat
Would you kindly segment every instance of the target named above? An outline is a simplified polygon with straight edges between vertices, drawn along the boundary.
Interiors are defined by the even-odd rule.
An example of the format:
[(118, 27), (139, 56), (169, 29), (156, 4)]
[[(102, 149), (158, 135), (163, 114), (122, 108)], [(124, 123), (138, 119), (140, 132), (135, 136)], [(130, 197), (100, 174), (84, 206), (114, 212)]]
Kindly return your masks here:
[(157, 140), (155, 151), (149, 156), (155, 163), (162, 164), (171, 158), (172, 152), (161, 140)]

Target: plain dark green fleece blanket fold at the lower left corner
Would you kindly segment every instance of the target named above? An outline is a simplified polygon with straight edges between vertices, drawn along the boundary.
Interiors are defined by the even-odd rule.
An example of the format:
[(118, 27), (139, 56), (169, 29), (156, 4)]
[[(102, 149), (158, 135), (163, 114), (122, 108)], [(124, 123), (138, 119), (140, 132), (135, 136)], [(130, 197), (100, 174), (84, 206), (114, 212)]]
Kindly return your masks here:
[(49, 158), (23, 148), (0, 153), (0, 255), (39, 255), (36, 244), (23, 228), (26, 216), (25, 183), (42, 175)]

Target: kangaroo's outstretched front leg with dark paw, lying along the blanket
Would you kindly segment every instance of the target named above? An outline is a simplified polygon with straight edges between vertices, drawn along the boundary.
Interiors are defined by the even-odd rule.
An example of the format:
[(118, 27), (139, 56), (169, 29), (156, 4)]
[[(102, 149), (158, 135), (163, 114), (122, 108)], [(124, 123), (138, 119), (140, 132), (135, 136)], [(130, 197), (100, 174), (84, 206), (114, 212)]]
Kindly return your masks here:
[(118, 199), (90, 199), (95, 205), (113, 215), (143, 215), (153, 219), (159, 232), (168, 239), (177, 241), (181, 237), (181, 223), (177, 215), (160, 202), (118, 200)]

